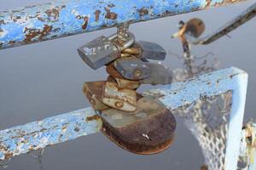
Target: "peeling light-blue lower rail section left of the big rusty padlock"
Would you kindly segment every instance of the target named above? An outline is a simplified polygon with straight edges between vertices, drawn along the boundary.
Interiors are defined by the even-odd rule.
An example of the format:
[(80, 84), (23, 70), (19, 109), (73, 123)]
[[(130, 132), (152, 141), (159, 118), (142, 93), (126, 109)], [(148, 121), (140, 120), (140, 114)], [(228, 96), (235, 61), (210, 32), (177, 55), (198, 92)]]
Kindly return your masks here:
[(102, 121), (86, 108), (0, 131), (0, 160), (98, 132)]

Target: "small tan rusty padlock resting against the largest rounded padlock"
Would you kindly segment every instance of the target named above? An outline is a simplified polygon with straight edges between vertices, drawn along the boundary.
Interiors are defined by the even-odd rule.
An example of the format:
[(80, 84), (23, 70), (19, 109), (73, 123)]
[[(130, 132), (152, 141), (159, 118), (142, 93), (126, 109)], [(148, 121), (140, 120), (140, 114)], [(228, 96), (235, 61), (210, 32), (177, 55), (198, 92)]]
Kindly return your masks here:
[(102, 103), (120, 111), (136, 111), (137, 93), (131, 89), (120, 89), (114, 82), (105, 82)]

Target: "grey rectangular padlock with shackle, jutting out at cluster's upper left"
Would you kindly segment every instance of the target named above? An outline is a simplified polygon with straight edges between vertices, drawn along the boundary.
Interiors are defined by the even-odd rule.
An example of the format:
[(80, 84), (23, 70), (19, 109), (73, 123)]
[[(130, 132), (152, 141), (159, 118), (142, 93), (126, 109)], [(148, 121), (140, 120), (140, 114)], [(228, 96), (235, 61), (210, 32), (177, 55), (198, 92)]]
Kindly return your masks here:
[(117, 34), (113, 34), (110, 37), (102, 36), (78, 48), (79, 55), (84, 62), (94, 70), (103, 65), (108, 65), (108, 63), (119, 58), (122, 50), (129, 48), (134, 44), (134, 35), (131, 32), (128, 34), (129, 39), (124, 42), (122, 47), (119, 47), (117, 43), (113, 42), (113, 40), (117, 38)]

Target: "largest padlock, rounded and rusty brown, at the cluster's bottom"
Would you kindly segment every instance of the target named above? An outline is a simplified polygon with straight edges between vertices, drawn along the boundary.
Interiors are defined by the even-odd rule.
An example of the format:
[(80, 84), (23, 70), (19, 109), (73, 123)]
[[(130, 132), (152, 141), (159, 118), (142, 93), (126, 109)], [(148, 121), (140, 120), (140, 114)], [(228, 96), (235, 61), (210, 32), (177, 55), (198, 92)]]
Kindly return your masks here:
[(109, 109), (99, 112), (102, 133), (121, 148), (136, 154), (156, 154), (172, 145), (176, 120), (172, 112), (151, 96), (137, 101), (137, 111)]

